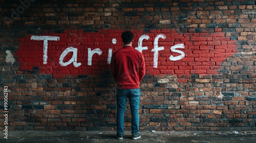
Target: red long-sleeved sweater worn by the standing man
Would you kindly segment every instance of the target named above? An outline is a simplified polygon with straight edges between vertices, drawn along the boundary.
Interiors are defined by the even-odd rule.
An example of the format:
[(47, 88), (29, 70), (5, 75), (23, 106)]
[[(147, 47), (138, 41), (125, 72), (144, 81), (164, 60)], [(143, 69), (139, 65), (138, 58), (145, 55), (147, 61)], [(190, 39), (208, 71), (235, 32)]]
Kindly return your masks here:
[(131, 45), (123, 46), (112, 55), (111, 72), (117, 83), (117, 88), (140, 88), (140, 82), (145, 75), (143, 54)]

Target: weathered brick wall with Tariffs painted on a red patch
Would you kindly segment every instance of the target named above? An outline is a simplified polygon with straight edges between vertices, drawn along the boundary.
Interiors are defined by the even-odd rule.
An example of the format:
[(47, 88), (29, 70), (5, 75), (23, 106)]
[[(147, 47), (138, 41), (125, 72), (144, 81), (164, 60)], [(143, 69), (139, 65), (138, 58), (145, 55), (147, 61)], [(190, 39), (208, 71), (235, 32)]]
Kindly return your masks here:
[(8, 130), (115, 130), (125, 30), (146, 61), (141, 130), (256, 129), (256, 1), (0, 2), (1, 130), (5, 111)]

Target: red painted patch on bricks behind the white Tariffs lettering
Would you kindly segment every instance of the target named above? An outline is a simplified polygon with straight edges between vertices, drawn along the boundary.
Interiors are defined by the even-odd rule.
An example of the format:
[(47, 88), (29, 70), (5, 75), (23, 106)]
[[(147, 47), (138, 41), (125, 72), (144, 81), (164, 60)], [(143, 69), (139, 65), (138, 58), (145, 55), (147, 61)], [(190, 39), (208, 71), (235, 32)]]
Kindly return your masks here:
[[(104, 70), (110, 70), (109, 51), (112, 50), (113, 53), (122, 47), (122, 32), (122, 30), (99, 30), (86, 33), (83, 30), (67, 30), (63, 33), (37, 35), (58, 37), (55, 41), (48, 40), (46, 64), (44, 64), (44, 40), (34, 40), (31, 37), (36, 35), (28, 35), (19, 39), (21, 43), (16, 56), (21, 63), (21, 70), (33, 70), (33, 67), (37, 66), (40, 74), (103, 74)], [(142, 35), (150, 37), (142, 41), (142, 46), (144, 48), (147, 46), (147, 50), (142, 51), (145, 57), (146, 74), (218, 74), (218, 70), (222, 69), (221, 63), (237, 53), (235, 41), (230, 40), (230, 37), (226, 37), (222, 32), (178, 33), (173, 29), (150, 30), (148, 33), (142, 30), (132, 30), (132, 32), (135, 36), (134, 47), (138, 47), (138, 41)], [(160, 36), (157, 45), (154, 46), (154, 41), (160, 34), (165, 36), (165, 39)], [(116, 40), (113, 40), (114, 38)], [(184, 48), (170, 49), (177, 44), (183, 44)], [(163, 50), (156, 54), (154, 49), (161, 46), (164, 47)], [(73, 63), (67, 66), (59, 63), (61, 54), (69, 47), (77, 49), (77, 67)], [(88, 61), (90, 51), (101, 52), (92, 56), (91, 65)], [(182, 53), (185, 56), (180, 57), (179, 60), (173, 61), (169, 58), (171, 55), (179, 57)], [(154, 67), (155, 55), (158, 55), (157, 67)], [(68, 53), (63, 58), (63, 63), (68, 62), (72, 57), (73, 52)]]

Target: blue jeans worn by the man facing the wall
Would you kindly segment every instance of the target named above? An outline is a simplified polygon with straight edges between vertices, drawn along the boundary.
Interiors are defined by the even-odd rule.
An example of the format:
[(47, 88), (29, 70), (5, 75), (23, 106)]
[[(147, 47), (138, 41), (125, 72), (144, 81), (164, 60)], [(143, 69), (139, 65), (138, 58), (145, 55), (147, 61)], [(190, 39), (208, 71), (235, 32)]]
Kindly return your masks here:
[(117, 116), (116, 126), (117, 134), (123, 134), (124, 127), (124, 112), (126, 108), (127, 98), (130, 102), (130, 108), (132, 113), (132, 133), (139, 133), (139, 105), (140, 105), (140, 88), (137, 89), (118, 89), (117, 88)]

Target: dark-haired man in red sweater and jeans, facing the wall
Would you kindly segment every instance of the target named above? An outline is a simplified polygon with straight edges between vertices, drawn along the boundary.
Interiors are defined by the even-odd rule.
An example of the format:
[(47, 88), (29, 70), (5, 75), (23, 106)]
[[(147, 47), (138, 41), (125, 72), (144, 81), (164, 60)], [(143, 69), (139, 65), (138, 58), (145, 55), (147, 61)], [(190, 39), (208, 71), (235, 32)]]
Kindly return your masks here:
[(117, 84), (117, 135), (123, 139), (124, 112), (127, 98), (130, 102), (132, 113), (132, 139), (138, 139), (139, 135), (139, 104), (140, 82), (145, 75), (145, 63), (142, 53), (132, 46), (133, 33), (122, 33), (122, 49), (116, 51), (111, 59), (111, 71)]

